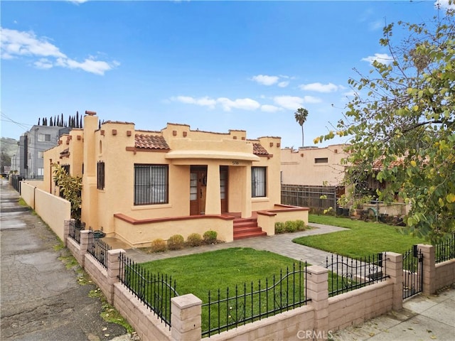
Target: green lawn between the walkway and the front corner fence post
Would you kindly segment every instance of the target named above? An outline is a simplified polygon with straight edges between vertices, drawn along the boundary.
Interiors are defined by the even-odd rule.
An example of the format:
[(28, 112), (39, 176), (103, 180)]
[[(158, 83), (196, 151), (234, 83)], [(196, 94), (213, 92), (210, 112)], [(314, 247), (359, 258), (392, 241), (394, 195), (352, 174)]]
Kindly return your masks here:
[[(269, 251), (259, 251), (250, 248), (230, 248), (218, 251), (204, 252), (180, 256), (171, 259), (162, 259), (141, 264), (142, 268), (156, 274), (167, 274), (176, 281), (176, 290), (179, 295), (193, 293), (203, 303), (218, 301), (218, 289), (220, 299), (233, 298), (222, 301), (220, 305), (210, 307), (210, 327), (208, 321), (208, 307), (202, 309), (202, 329), (218, 328), (219, 325), (235, 325), (236, 321), (243, 318), (257, 320), (257, 315), (274, 315), (272, 310), (304, 300), (304, 274), (296, 274), (295, 278), (289, 276), (282, 281), (282, 286), (264, 293), (265, 288), (270, 288), (277, 283), (282, 276), (299, 269), (299, 262)], [(280, 274), (280, 270), (282, 274)], [(302, 266), (302, 271), (304, 268)], [(274, 278), (275, 276), (275, 278)], [(267, 278), (267, 284), (266, 284)], [(295, 279), (295, 283), (294, 283)], [(262, 290), (260, 301), (259, 295), (252, 291)], [(245, 287), (246, 291), (245, 291)], [(236, 293), (237, 286), (237, 293)], [(227, 292), (229, 288), (229, 293)], [(245, 296), (243, 296), (245, 293)], [(260, 302), (260, 303), (259, 303)], [(259, 309), (260, 306), (260, 309)], [(255, 316), (253, 318), (253, 316)]]

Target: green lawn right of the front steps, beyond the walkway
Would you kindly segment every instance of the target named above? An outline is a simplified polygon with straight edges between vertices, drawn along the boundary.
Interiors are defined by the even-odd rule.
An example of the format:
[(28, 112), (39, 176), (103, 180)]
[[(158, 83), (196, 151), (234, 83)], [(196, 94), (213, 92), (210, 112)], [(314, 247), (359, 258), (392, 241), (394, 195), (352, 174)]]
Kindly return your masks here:
[(403, 254), (424, 239), (400, 233), (400, 227), (381, 222), (363, 222), (328, 215), (309, 215), (309, 222), (346, 227), (348, 231), (318, 234), (293, 240), (297, 244), (353, 258), (370, 256), (382, 251)]

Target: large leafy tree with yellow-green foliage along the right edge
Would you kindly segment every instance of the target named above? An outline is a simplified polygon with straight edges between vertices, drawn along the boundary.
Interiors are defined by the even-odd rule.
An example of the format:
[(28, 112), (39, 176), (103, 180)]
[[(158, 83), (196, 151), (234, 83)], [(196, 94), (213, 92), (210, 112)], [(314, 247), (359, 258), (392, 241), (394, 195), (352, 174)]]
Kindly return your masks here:
[[(380, 45), (390, 60), (348, 81), (355, 97), (344, 119), (315, 139), (350, 136), (348, 183), (366, 175), (386, 183), (379, 199), (402, 197), (412, 207), (405, 232), (433, 243), (455, 231), (455, 21), (453, 10), (439, 14), (385, 26)], [(397, 28), (409, 36), (395, 45)]]

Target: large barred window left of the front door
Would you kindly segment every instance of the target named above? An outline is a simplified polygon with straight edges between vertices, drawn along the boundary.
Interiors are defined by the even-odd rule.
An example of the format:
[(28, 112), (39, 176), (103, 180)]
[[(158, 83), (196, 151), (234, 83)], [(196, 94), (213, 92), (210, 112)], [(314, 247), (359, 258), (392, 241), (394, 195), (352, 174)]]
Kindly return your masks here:
[(134, 205), (168, 202), (168, 166), (134, 165)]

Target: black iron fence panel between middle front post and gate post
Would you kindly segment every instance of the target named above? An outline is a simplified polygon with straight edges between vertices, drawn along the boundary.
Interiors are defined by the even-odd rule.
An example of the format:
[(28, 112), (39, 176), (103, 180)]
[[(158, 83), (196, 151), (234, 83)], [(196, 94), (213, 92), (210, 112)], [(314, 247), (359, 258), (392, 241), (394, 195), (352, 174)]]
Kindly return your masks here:
[(363, 259), (353, 259), (338, 254), (326, 257), (328, 273), (328, 296), (369, 286), (384, 281), (387, 276), (386, 254), (373, 254)]

